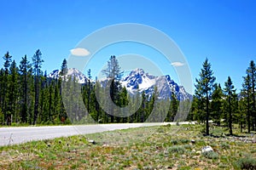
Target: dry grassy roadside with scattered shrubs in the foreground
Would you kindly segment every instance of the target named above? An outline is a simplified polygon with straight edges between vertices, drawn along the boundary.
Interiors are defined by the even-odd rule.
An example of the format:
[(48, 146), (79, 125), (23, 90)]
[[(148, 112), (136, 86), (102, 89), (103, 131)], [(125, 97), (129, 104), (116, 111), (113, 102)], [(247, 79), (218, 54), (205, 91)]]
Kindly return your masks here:
[[(0, 147), (0, 169), (240, 169), (256, 166), (256, 144), (204, 137), (199, 125), (140, 127)], [(243, 134), (247, 135), (247, 134)], [(94, 140), (92, 144), (89, 140)], [(191, 143), (191, 139), (195, 143)], [(250, 136), (247, 135), (247, 138)], [(200, 153), (210, 145), (213, 155)], [(248, 161), (247, 161), (248, 160)]]

